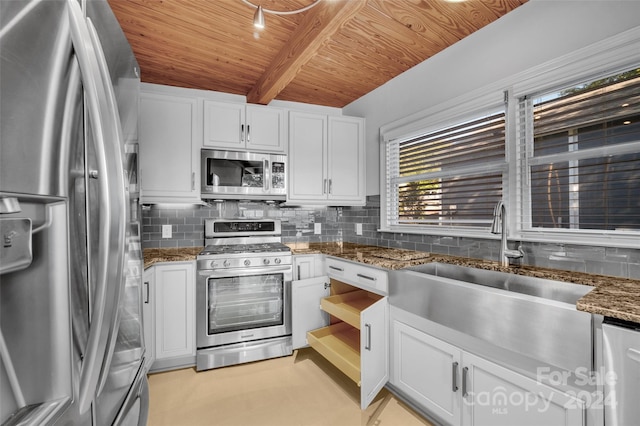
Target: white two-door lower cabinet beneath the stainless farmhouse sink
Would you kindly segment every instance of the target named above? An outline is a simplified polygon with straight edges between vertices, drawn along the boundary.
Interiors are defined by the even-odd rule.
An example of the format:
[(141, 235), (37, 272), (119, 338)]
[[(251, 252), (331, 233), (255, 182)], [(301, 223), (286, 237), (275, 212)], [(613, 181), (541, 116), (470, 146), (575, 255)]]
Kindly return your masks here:
[(391, 384), (451, 425), (585, 424), (582, 401), (392, 321)]

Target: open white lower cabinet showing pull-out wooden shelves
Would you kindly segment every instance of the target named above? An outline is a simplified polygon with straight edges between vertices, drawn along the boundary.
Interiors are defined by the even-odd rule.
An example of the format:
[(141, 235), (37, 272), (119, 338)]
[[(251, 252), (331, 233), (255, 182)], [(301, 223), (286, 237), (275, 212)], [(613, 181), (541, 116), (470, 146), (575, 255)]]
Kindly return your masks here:
[(294, 348), (308, 344), (356, 382), (364, 410), (389, 379), (388, 298), (328, 276), (292, 293)]

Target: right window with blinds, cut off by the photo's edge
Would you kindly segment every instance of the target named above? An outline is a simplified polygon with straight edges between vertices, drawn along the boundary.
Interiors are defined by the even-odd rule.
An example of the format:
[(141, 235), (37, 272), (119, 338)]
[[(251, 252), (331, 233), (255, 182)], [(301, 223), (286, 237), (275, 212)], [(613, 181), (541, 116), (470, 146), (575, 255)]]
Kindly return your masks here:
[(640, 230), (640, 68), (523, 98), (520, 111), (525, 226)]

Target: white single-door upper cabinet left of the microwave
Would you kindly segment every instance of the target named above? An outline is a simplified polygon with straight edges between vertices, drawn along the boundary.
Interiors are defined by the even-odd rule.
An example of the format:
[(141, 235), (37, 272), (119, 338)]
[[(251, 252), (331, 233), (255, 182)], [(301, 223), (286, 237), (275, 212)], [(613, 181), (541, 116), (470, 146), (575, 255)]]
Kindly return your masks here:
[(201, 113), (197, 99), (140, 94), (142, 203), (200, 203)]

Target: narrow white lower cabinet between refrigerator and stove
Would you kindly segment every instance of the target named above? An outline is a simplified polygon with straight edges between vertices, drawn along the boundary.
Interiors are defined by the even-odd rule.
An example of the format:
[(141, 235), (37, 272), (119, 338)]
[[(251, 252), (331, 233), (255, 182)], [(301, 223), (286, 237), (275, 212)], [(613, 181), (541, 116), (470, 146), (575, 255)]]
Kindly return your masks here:
[(153, 370), (195, 365), (194, 267), (194, 262), (168, 262), (154, 266)]

